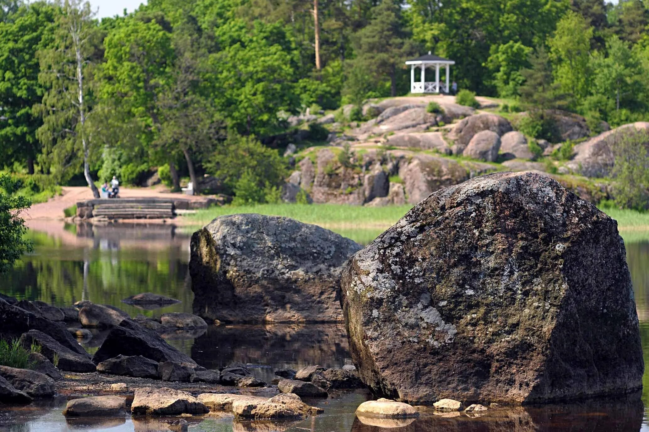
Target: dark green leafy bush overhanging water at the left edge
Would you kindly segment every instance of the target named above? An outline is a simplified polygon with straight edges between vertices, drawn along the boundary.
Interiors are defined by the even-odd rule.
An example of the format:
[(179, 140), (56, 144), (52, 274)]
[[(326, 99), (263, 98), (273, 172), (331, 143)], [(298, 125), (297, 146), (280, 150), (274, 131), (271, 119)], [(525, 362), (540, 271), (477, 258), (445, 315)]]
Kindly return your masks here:
[(30, 202), (16, 194), (20, 187), (18, 180), (0, 173), (0, 274), (10, 269), (23, 252), (31, 250), (31, 243), (23, 238), (27, 228), (20, 217)]

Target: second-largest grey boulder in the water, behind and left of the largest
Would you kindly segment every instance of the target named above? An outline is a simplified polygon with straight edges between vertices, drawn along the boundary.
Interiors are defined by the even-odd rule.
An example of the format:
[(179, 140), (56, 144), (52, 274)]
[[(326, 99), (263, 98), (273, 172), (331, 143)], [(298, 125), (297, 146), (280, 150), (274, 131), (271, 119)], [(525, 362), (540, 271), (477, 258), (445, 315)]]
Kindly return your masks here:
[(214, 219), (191, 237), (194, 313), (209, 321), (335, 322), (354, 241), (287, 217)]

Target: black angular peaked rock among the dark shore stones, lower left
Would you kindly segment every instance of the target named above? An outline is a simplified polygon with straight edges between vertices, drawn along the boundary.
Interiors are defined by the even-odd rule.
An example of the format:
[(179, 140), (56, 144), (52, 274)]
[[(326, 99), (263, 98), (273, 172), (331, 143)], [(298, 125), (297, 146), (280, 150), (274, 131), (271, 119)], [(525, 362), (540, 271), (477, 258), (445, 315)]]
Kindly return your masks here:
[(195, 365), (196, 362), (169, 345), (158, 333), (149, 330), (134, 320), (123, 320), (119, 326), (110, 330), (92, 361), (97, 364), (117, 355), (141, 355), (154, 361), (173, 361), (182, 365)]

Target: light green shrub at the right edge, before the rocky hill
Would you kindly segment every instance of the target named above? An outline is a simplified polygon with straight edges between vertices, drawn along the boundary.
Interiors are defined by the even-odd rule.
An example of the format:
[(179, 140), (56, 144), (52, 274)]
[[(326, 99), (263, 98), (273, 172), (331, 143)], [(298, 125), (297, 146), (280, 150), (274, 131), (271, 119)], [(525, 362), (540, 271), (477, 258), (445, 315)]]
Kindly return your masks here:
[(649, 133), (623, 134), (613, 148), (613, 196), (620, 208), (649, 208)]

